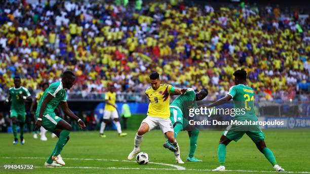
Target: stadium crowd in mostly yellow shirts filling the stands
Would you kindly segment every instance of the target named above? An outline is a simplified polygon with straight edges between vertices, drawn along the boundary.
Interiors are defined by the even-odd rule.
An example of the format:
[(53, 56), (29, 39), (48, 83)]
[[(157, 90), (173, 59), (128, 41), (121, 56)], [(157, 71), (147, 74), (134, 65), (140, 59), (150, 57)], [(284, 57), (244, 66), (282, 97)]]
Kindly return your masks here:
[(69, 95), (84, 97), (105, 92), (111, 81), (119, 93), (144, 94), (148, 74), (158, 71), (175, 86), (207, 88), (214, 100), (234, 85), (231, 74), (241, 67), (259, 100), (308, 92), (301, 84), (310, 81), (310, 19), (299, 19), (297, 9), (284, 14), (278, 7), (244, 3), (214, 9), (176, 1), (122, 2), (5, 1), (0, 100), (15, 75), (35, 92), (64, 70), (78, 77)]

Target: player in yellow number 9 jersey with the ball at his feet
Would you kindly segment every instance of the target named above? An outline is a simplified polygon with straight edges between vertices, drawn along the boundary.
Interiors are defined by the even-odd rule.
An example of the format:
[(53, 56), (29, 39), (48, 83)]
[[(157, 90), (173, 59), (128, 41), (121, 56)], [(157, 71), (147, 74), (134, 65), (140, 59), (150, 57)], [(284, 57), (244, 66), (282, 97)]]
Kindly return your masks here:
[(182, 95), (186, 89), (174, 88), (169, 84), (161, 84), (159, 74), (153, 72), (149, 76), (151, 87), (145, 91), (149, 99), (147, 117), (142, 121), (134, 141), (134, 150), (128, 155), (131, 160), (140, 152), (140, 144), (143, 135), (156, 126), (162, 129), (163, 134), (174, 146), (175, 159), (177, 163), (184, 163), (180, 158), (180, 149), (174, 138), (173, 126), (170, 120), (169, 99), (170, 93)]

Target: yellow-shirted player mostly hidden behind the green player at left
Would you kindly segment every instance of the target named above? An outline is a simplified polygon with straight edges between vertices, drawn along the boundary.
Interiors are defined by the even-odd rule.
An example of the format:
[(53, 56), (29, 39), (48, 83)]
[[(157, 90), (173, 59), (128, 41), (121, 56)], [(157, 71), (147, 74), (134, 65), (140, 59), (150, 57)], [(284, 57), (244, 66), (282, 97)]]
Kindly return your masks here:
[[(41, 87), (42, 87), (42, 91), (40, 93), (36, 94), (35, 99), (33, 99), (32, 103), (31, 103), (31, 106), (30, 106), (30, 112), (33, 115), (33, 117), (35, 117), (35, 114), (33, 112), (33, 107), (34, 107), (35, 104), (39, 103), (39, 101), (40, 101), (41, 97), (43, 96), (45, 90), (47, 88), (49, 88), (49, 83), (48, 82), (43, 83)], [(36, 120), (36, 118), (34, 120)], [(47, 132), (47, 130), (43, 126), (41, 126), (40, 127), (40, 136), (41, 136), (40, 140), (47, 141), (47, 137), (45, 136), (46, 132)], [(34, 132), (33, 138), (37, 139), (37, 131)]]

